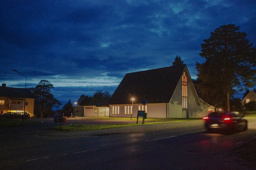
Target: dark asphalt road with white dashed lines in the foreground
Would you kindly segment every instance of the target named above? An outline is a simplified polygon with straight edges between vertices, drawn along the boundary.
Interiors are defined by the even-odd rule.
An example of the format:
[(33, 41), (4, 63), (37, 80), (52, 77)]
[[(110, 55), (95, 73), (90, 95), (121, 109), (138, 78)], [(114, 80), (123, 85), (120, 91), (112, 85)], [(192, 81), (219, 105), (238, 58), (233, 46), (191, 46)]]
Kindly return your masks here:
[(253, 169), (229, 154), (255, 140), (256, 120), (248, 119), (248, 130), (232, 135), (206, 133), (201, 120), (161, 123), (155, 129), (141, 125), (54, 134), (44, 125), (56, 123), (44, 120), (34, 130), (2, 131), (0, 165), (1, 169)]

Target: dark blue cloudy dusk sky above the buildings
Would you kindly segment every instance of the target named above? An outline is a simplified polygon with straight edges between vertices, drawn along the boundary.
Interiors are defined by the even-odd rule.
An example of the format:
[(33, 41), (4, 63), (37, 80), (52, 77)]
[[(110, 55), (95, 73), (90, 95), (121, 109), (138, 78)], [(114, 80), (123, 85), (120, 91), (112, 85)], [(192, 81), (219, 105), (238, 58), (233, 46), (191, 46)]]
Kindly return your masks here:
[(0, 81), (45, 79), (62, 104), (111, 94), (126, 73), (168, 67), (176, 55), (196, 78), (201, 43), (235, 24), (256, 45), (256, 0), (1, 0)]

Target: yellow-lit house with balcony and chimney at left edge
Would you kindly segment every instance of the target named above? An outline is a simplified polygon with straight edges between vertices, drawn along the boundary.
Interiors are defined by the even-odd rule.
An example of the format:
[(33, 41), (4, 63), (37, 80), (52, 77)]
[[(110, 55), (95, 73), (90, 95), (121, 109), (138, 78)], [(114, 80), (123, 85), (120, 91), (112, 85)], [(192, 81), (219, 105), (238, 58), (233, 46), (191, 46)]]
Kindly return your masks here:
[(6, 112), (25, 112), (30, 117), (34, 115), (35, 97), (29, 89), (6, 87), (2, 84), (0, 87), (0, 114)]

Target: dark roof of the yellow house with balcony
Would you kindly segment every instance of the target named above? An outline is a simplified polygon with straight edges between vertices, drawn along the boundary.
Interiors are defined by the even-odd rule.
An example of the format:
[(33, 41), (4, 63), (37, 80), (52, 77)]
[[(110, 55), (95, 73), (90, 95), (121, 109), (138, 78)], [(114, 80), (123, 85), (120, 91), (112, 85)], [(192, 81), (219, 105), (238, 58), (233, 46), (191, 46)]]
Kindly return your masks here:
[(0, 87), (0, 97), (35, 99), (33, 93), (29, 89), (13, 87)]

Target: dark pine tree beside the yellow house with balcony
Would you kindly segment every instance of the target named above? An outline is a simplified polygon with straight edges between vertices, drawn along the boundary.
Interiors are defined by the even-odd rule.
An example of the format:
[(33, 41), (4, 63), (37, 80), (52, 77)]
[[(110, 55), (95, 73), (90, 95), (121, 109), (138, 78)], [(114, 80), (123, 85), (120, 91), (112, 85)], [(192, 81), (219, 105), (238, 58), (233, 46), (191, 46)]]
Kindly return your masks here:
[(47, 80), (41, 80), (34, 89), (31, 89), (35, 96), (34, 114), (48, 115), (52, 112), (52, 107), (60, 107), (62, 105), (59, 100), (55, 99), (51, 93), (53, 85)]

